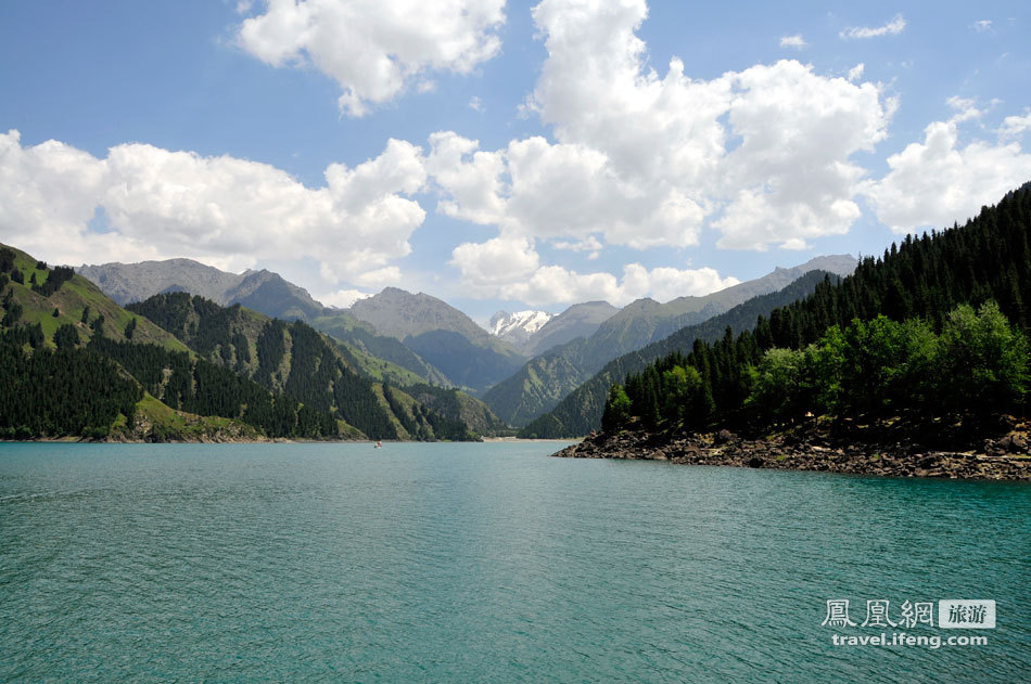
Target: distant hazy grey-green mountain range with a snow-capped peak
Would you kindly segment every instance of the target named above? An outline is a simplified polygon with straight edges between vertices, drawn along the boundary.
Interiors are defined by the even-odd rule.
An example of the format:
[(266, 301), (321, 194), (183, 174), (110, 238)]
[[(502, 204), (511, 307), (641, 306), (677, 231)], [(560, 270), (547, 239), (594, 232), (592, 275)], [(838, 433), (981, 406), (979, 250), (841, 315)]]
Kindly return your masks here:
[(307, 322), (331, 335), (359, 372), (374, 380), (463, 388), (483, 398), (487, 413), (519, 427), (555, 408), (621, 354), (777, 292), (806, 272), (848, 274), (854, 267), (848, 255), (819, 257), (700, 297), (638, 299), (623, 309), (590, 301), (559, 314), (498, 312), (489, 331), (436, 297), (396, 287), (338, 309), (265, 270), (233, 274), (170, 259), (77, 271), (126, 304), (190, 292), (222, 306), (241, 304), (268, 317)]

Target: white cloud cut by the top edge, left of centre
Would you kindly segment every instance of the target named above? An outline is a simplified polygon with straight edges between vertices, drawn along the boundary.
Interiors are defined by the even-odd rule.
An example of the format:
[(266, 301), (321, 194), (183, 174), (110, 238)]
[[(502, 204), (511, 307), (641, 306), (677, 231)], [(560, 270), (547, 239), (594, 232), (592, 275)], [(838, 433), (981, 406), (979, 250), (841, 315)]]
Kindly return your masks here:
[(468, 74), (495, 56), (505, 0), (267, 0), (238, 42), (273, 66), (311, 64), (343, 90), (340, 108), (362, 116), (431, 70)]

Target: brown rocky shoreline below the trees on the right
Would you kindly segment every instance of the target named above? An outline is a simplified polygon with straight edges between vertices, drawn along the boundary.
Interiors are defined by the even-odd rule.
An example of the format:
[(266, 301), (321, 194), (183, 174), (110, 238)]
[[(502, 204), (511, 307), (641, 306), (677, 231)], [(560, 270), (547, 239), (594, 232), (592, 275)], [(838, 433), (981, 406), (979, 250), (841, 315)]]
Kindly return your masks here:
[(952, 452), (914, 444), (884, 448), (843, 442), (811, 431), (746, 439), (728, 430), (669, 436), (644, 430), (601, 433), (552, 454), (570, 459), (634, 459), (688, 465), (779, 470), (820, 470), (881, 477), (1031, 481), (1027, 426), (983, 441), (981, 449)]

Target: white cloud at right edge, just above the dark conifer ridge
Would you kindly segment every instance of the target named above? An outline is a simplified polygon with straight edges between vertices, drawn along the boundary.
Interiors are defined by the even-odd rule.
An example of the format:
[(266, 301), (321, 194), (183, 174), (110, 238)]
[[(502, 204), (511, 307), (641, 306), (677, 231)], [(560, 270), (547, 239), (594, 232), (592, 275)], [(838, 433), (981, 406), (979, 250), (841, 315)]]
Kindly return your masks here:
[(943, 228), (1031, 178), (1031, 155), (1016, 142), (973, 141), (965, 147), (957, 142), (955, 121), (935, 121), (922, 143), (888, 157), (891, 170), (866, 189), (877, 218), (900, 233)]

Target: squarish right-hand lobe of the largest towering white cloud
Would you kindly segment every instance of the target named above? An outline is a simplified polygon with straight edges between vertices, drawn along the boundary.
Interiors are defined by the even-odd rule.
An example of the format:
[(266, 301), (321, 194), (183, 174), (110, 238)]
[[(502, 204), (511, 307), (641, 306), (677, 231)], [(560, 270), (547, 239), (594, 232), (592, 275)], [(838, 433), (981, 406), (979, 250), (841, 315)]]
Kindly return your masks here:
[[(848, 232), (865, 170), (850, 162), (887, 135), (878, 89), (828, 79), (797, 62), (753, 66), (729, 121), (742, 138), (722, 169), (735, 194), (713, 225), (728, 248), (803, 248), (805, 241)], [(890, 109), (890, 108), (889, 108)]]

